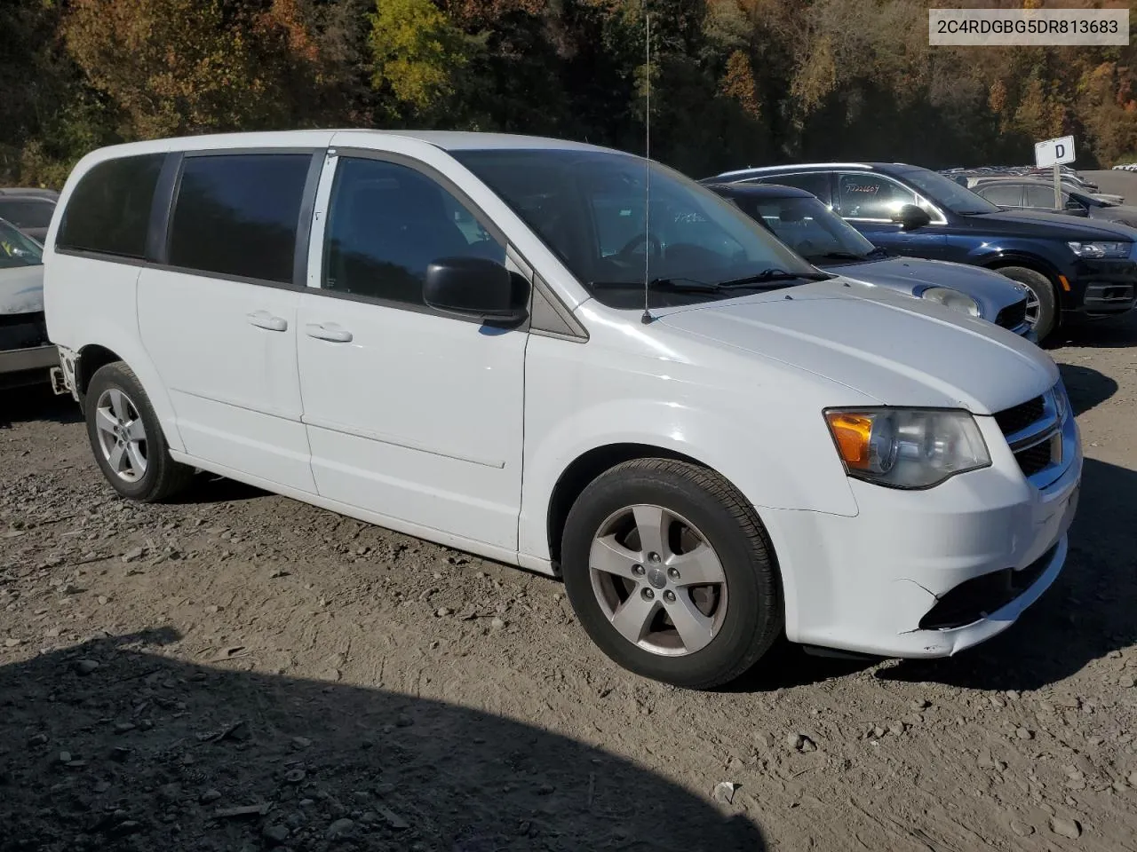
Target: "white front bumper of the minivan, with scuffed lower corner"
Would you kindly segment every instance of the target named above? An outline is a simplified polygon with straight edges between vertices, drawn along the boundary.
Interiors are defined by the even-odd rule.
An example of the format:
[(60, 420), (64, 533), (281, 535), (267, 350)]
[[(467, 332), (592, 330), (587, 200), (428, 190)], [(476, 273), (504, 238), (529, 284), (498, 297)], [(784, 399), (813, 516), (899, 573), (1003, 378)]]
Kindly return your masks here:
[(791, 641), (948, 657), (1005, 630), (1051, 586), (1078, 506), (1082, 457), (1073, 417), (1062, 424), (1063, 463), (1030, 479), (994, 418), (976, 419), (989, 468), (927, 491), (850, 481), (856, 517), (763, 511)]

